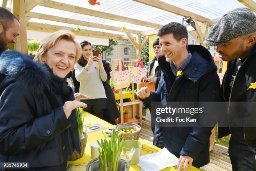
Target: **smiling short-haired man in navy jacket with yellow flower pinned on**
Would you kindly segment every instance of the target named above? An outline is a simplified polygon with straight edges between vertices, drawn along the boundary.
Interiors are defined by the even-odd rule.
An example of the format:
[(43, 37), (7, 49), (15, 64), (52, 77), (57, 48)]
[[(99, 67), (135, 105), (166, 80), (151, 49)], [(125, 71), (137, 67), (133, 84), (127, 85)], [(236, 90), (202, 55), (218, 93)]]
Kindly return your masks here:
[[(188, 33), (176, 22), (160, 28), (159, 44), (166, 61), (159, 61), (162, 77), (156, 92), (147, 87), (138, 91), (146, 104), (151, 102), (218, 102), (220, 80), (209, 51), (200, 45), (187, 45)], [(182, 71), (183, 76), (177, 73)], [(164, 147), (179, 158), (184, 171), (209, 163), (209, 139), (213, 127), (163, 127)]]

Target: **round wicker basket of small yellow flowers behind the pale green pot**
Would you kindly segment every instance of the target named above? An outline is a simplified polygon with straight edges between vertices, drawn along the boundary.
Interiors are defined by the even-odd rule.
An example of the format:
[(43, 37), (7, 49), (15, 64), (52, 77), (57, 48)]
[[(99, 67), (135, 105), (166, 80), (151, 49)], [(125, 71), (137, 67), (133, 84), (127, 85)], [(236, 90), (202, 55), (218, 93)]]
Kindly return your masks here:
[(140, 131), (141, 131), (141, 126), (135, 123), (120, 123), (116, 125), (115, 128), (117, 131), (120, 131), (122, 129), (133, 129), (135, 132), (134, 133), (122, 133), (120, 135), (120, 140), (138, 140)]

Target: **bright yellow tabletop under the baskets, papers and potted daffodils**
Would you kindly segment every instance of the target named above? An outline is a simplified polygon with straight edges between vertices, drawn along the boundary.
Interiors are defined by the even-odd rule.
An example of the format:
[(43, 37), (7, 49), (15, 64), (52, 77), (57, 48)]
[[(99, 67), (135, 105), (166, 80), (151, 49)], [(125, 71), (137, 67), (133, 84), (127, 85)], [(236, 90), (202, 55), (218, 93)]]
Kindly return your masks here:
[[(84, 121), (86, 123), (91, 123), (91, 124), (95, 124), (95, 123), (98, 123), (102, 126), (105, 126), (106, 128), (113, 128), (113, 125), (111, 125), (110, 123), (104, 121), (104, 120), (101, 120), (100, 118), (98, 117), (95, 117), (94, 115), (88, 113), (88, 112), (84, 112), (85, 113), (85, 116), (84, 116)], [(84, 153), (84, 156), (80, 159), (78, 159), (77, 161), (69, 161), (69, 163), (88, 163), (89, 161), (91, 161), (91, 148), (90, 148), (90, 145), (92, 142), (95, 142), (97, 140), (100, 140), (101, 138), (103, 139), (104, 138), (104, 135), (102, 134), (102, 131), (103, 133), (105, 133), (107, 129), (105, 130), (100, 130), (100, 131), (96, 131), (96, 132), (92, 132), (92, 133), (89, 133), (88, 134), (88, 138), (87, 138), (87, 144), (86, 144), (86, 148), (85, 148), (85, 153)], [(145, 140), (142, 140), (142, 139), (139, 139), (139, 141), (143, 144), (143, 147), (151, 147), (152, 149), (156, 150), (156, 151), (160, 151), (161, 149), (146, 142)], [(142, 148), (143, 148), (142, 147)], [(130, 170), (129, 171), (140, 171), (140, 167), (138, 165), (132, 165), (130, 167)], [(168, 168), (165, 168), (161, 171), (177, 171), (176, 168), (174, 167), (168, 167)], [(191, 169), (188, 169), (188, 171), (201, 171), (200, 169), (198, 168), (195, 168), (192, 166)]]

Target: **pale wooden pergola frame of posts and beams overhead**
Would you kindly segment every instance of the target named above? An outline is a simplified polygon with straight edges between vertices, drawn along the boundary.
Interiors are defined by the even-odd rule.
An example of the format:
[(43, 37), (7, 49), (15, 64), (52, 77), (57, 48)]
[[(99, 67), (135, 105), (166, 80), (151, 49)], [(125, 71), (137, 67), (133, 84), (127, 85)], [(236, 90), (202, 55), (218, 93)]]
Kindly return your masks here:
[[(58, 17), (54, 15), (46, 15), (42, 13), (31, 12), (31, 10), (34, 7), (36, 7), (36, 5), (40, 5), (48, 8), (54, 8), (58, 10), (64, 10), (64, 11), (73, 12), (73, 13), (90, 15), (90, 16), (99, 17), (99, 18), (105, 18), (109, 20), (132, 23), (138, 26), (147, 26), (150, 28), (155, 28), (154, 30), (144, 31), (144, 32), (141, 32), (138, 30), (126, 29), (126, 36), (123, 34), (107, 33), (107, 32), (84, 30), (84, 29), (81, 29), (79, 33), (74, 32), (76, 35), (79, 35), (79, 36), (107, 38), (107, 39), (114, 39), (114, 40), (129, 39), (133, 43), (133, 46), (136, 48), (136, 54), (138, 56), (138, 59), (141, 59), (140, 52), (143, 46), (148, 41), (148, 36), (156, 34), (158, 29), (162, 27), (162, 25), (157, 23), (147, 22), (144, 20), (138, 20), (134, 18), (128, 18), (120, 15), (111, 14), (111, 13), (105, 13), (105, 12), (92, 10), (89, 8), (82, 8), (79, 6), (69, 5), (65, 3), (59, 3), (54, 0), (3, 0), (2, 7), (6, 8), (8, 1), (10, 4), (9, 10), (20, 20), (20, 36), (18, 36), (18, 43), (15, 45), (15, 49), (22, 51), (23, 53), (28, 53), (26, 30), (54, 32), (60, 29), (67, 29), (74, 32), (74, 28), (71, 28), (71, 27), (63, 27), (63, 26), (49, 25), (49, 24), (43, 24), (43, 23), (29, 22), (31, 18), (39, 18), (44, 20), (51, 20), (51, 21), (57, 21), (61, 23), (75, 24), (79, 26), (87, 26), (92, 28), (101, 28), (101, 29), (111, 30), (111, 31), (120, 32), (121, 30), (120, 27), (116, 27), (116, 26), (109, 26), (104, 24), (91, 23), (88, 21), (75, 20), (70, 18)], [(85, 0), (84, 3), (87, 3), (86, 1), (87, 0)], [(154, 8), (159, 8), (169, 13), (174, 13), (184, 17), (191, 17), (192, 20), (195, 21), (196, 31), (192, 31), (190, 33), (203, 46), (207, 46), (203, 43), (203, 41), (205, 39), (205, 36), (207, 35), (209, 26), (211, 26), (218, 19), (216, 18), (216, 19), (210, 20), (209, 18), (192, 13), (190, 11), (184, 10), (174, 5), (164, 3), (160, 0), (133, 0), (133, 1), (145, 4), (145, 5), (149, 5)], [(246, 5), (248, 8), (251, 8), (254, 12), (256, 12), (256, 3), (253, 0), (238, 0), (238, 1), (243, 3), (243, 5)], [(143, 42), (141, 42), (141, 37), (145, 37)]]

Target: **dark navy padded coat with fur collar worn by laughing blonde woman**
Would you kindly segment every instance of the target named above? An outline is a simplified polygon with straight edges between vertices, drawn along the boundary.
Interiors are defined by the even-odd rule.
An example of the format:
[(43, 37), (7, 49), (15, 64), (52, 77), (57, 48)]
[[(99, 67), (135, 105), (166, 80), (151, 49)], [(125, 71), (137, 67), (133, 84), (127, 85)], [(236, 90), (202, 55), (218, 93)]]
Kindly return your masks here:
[(74, 92), (47, 65), (17, 51), (4, 52), (0, 66), (0, 161), (58, 170), (74, 148), (80, 151), (76, 113), (67, 119), (62, 108)]

